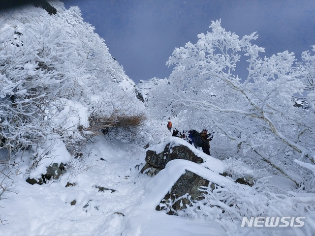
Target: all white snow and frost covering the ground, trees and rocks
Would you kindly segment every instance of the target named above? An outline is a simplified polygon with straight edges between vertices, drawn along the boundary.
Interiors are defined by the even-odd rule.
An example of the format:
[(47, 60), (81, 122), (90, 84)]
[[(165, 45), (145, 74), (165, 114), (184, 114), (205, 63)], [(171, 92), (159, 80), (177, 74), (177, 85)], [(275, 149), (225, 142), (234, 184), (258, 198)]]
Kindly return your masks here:
[[(313, 70), (314, 56), (305, 52), (305, 63), (296, 68), (292, 66), (293, 53), (287, 51), (260, 59), (256, 55), (264, 52), (263, 48), (250, 43), (257, 38), (254, 33), (239, 40), (237, 35), (225, 32), (221, 21), (217, 21), (211, 26), (213, 32), (198, 35), (197, 44), (189, 42), (186, 48), (175, 49), (167, 62), (175, 65), (168, 79), (153, 78), (135, 86), (109, 54), (104, 40), (83, 22), (79, 8), (65, 10), (61, 2), (55, 4), (62, 8), (56, 16), (48, 18), (45, 10), (34, 7), (16, 10), (5, 16), (10, 25), (2, 24), (0, 29), (4, 67), (1, 66), (6, 68), (0, 75), (3, 82), (0, 120), (7, 119), (14, 128), (10, 132), (1, 130), (6, 140), (21, 137), (17, 147), (30, 144), (20, 156), (10, 156), (9, 146), (1, 138), (0, 160), (4, 163), (0, 163), (0, 236), (242, 236), (244, 233), (261, 236), (265, 232), (314, 235), (315, 179), (309, 174), (311, 171), (315, 174), (315, 167), (307, 162), (312, 161), (308, 159), (315, 153), (314, 114), (297, 110), (291, 103), (292, 94), (303, 88), (299, 78), (305, 76), (291, 74), (295, 74), (294, 70), (304, 70), (305, 63), (305, 71)], [(223, 37), (218, 37), (218, 33), (224, 34)], [(20, 36), (14, 38), (14, 34)], [(69, 40), (71, 43), (66, 43)], [(212, 46), (216, 43), (207, 45), (208, 42), (224, 43), (227, 51), (233, 53), (220, 54), (217, 49), (213, 53)], [(248, 62), (252, 68), (245, 86), (239, 83), (237, 74), (224, 72), (227, 65), (235, 67), (239, 55), (234, 53), (240, 50), (251, 58)], [(44, 69), (46, 66), (49, 69)], [(135, 89), (149, 101), (137, 100)], [(38, 94), (29, 96), (33, 91)], [(15, 97), (22, 100), (16, 103)], [(314, 93), (310, 92), (308, 97), (314, 108)], [(40, 108), (38, 120), (32, 106)], [(127, 131), (128, 127), (116, 133), (111, 130), (112, 135), (108, 136), (83, 137), (92, 133), (84, 129), (89, 127), (92, 112), (100, 117), (143, 114), (148, 120), (139, 128), (142, 134), (138, 136), (133, 136), (133, 127)], [(261, 115), (257, 119), (258, 113)], [(216, 133), (212, 153), (219, 156), (223, 150), (220, 158), (231, 158), (218, 160), (177, 137), (168, 137), (161, 143), (170, 135), (161, 123), (172, 114), (176, 114), (172, 118), (173, 127), (181, 130), (190, 129), (190, 125), (194, 129), (211, 128)], [(45, 117), (45, 122), (41, 117)], [(15, 132), (16, 127), (22, 128), (21, 131)], [(41, 132), (42, 127), (47, 127), (47, 133)], [(301, 132), (303, 127), (305, 131)], [(268, 129), (272, 133), (266, 132)], [(42, 142), (32, 140), (32, 136), (41, 137)], [(228, 136), (233, 140), (237, 137), (237, 142), (224, 141)], [(24, 139), (30, 142), (23, 143)], [(204, 163), (172, 160), (153, 178), (140, 175), (146, 151), (141, 147), (157, 143), (160, 144), (152, 147), (157, 153), (167, 144), (170, 152), (175, 146), (184, 145)], [(236, 147), (236, 143), (240, 146)], [(293, 161), (298, 158), (291, 156), (293, 152), (287, 155), (288, 147), (302, 152), (299, 160)], [(271, 166), (258, 166), (261, 156), (252, 152), (254, 148), (271, 161), (277, 158), (275, 164), (283, 166), (284, 172), (298, 180), (301, 187), (297, 188), (288, 178), (271, 175), (272, 170), (268, 169)], [(70, 149), (74, 155), (68, 152)], [(81, 152), (82, 157), (75, 157)], [(252, 166), (256, 169), (246, 165), (244, 158), (255, 163)], [(28, 178), (39, 179), (53, 163), (63, 163), (67, 170), (58, 180), (47, 180), (42, 185), (26, 182)], [(298, 165), (311, 171), (299, 170)], [(196, 206), (188, 208), (191, 214), (188, 217), (157, 211), (161, 199), (187, 170), (218, 184), (217, 189), (209, 189), (204, 202), (197, 203), (201, 217), (191, 214)], [(248, 176), (257, 182), (253, 187), (234, 183), (232, 178), (221, 176), (223, 172), (231, 174), (233, 179)], [(275, 214), (306, 216), (306, 225), (279, 234), (269, 229), (240, 228), (243, 216)], [(179, 212), (179, 215), (184, 214)]]

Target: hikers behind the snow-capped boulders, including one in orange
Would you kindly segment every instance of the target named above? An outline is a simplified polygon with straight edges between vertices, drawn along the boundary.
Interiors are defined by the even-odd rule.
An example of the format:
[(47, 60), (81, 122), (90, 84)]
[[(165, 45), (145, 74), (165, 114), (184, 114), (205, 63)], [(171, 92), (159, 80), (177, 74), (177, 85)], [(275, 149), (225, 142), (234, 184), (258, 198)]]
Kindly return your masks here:
[[(167, 122), (167, 128), (170, 131), (172, 130), (172, 122), (170, 120)], [(202, 148), (204, 153), (210, 155), (210, 141), (213, 135), (208, 133), (207, 129), (203, 129), (201, 133), (196, 130), (183, 130), (181, 133), (175, 128), (173, 129), (172, 136), (182, 138), (196, 148)]]

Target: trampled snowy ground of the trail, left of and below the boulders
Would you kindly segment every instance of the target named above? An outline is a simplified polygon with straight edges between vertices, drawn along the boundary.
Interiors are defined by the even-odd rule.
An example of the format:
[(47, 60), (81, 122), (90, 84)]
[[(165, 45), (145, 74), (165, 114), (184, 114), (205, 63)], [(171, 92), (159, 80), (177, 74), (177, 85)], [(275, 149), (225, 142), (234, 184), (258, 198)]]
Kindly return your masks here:
[[(16, 176), (11, 189), (16, 193), (6, 192), (0, 201), (0, 217), (6, 220), (0, 236), (225, 235), (216, 223), (156, 211), (154, 200), (163, 195), (158, 183), (167, 179), (138, 174), (145, 150), (97, 139), (87, 148), (90, 155), (76, 164), (79, 171), (58, 181), (31, 185), (22, 172)], [(68, 182), (75, 185), (65, 187)]]

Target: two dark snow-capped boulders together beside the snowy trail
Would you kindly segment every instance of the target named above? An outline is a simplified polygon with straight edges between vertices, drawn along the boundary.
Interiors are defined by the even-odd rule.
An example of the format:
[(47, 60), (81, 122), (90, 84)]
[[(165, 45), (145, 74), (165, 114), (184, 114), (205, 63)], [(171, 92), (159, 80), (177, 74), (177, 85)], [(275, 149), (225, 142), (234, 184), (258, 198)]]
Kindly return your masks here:
[[(225, 177), (227, 166), (222, 161), (190, 146), (186, 141), (172, 137), (163, 144), (147, 150), (146, 164), (140, 173), (153, 177), (166, 168), (164, 175), (170, 177), (164, 179), (165, 185), (168, 185), (165, 186), (167, 191), (158, 200), (156, 210), (164, 210), (167, 214), (176, 215), (187, 206), (203, 200), (204, 193), (208, 194), (216, 186), (231, 181)], [(161, 190), (164, 175), (155, 177)], [(169, 184), (170, 182), (172, 184)]]

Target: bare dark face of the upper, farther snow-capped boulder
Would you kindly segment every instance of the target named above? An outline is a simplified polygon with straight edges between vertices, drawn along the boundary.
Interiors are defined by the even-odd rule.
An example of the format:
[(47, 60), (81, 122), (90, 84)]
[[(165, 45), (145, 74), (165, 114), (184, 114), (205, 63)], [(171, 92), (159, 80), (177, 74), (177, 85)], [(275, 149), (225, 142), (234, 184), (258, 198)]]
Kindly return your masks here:
[(148, 168), (154, 168), (154, 175), (150, 174), (150, 176), (155, 176), (160, 170), (165, 168), (169, 161), (175, 159), (184, 159), (197, 164), (204, 162), (201, 157), (196, 156), (188, 147), (184, 145), (178, 145), (170, 148), (169, 144), (167, 144), (161, 153), (157, 154), (153, 150), (147, 151), (145, 161), (148, 165), (146, 164), (140, 173), (148, 173), (148, 171), (145, 172)]

